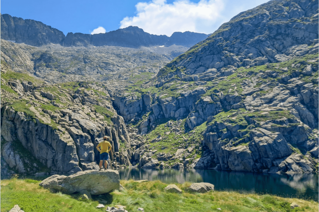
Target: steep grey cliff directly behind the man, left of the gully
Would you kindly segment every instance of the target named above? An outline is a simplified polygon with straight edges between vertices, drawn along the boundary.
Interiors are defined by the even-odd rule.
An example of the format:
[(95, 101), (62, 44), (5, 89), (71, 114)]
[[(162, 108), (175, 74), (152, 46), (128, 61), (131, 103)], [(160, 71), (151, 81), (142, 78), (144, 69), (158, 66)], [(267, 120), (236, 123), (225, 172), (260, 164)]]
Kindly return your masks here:
[[(27, 151), (30, 153), (28, 157), (34, 157), (47, 167), (50, 173), (71, 174), (98, 170), (97, 162), (100, 158), (96, 146), (104, 135), (110, 137), (113, 147), (109, 161), (111, 167), (130, 165), (130, 138), (123, 118), (108, 115), (110, 120), (107, 121), (107, 116), (96, 111), (98, 109), (108, 114), (116, 113), (106, 99), (98, 103), (93, 101), (94, 92), (79, 91), (77, 99), (83, 98), (83, 102), (89, 102), (90, 98), (93, 104), (98, 104), (95, 107), (85, 106), (81, 104), (82, 101), (74, 101), (70, 94), (59, 97), (56, 91), (30, 92), (20, 81), (15, 84), (21, 87), (23, 95), (28, 95), (31, 105), (25, 104), (21, 107), (18, 103), (11, 106), (11, 103), (1, 108), (1, 135), (7, 142), (2, 149), (2, 156), (10, 168), (19, 173), (36, 172), (37, 165), (33, 167), (30, 158), (21, 157), (21, 151)], [(55, 103), (57, 99), (63, 104), (73, 102), (73, 106), (63, 109), (63, 105)], [(55, 107), (56, 110), (43, 109), (39, 102)], [(24, 150), (19, 152), (11, 144), (18, 147), (21, 145)], [(125, 148), (121, 149), (122, 144)]]

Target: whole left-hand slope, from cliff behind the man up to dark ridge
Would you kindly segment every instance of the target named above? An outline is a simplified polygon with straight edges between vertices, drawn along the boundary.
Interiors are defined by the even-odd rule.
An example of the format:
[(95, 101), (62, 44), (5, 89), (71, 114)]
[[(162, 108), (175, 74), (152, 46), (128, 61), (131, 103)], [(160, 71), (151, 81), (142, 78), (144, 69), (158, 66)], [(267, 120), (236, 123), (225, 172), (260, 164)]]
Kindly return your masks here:
[(111, 165), (131, 165), (130, 136), (113, 97), (128, 84), (150, 83), (176, 49), (186, 51), (32, 47), (1, 40), (2, 174), (97, 169), (94, 145), (104, 135), (114, 147)]

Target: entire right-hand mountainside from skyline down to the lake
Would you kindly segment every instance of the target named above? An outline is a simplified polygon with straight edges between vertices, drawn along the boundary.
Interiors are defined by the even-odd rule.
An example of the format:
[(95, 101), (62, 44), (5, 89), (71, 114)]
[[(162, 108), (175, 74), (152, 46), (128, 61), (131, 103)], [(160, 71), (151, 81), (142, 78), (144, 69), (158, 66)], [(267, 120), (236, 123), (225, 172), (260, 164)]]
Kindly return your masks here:
[[(183, 158), (173, 166), (180, 167), (317, 169), (318, 1), (270, 1), (242, 12), (160, 69), (156, 80), (155, 87), (123, 91), (114, 103), (125, 121), (145, 114), (139, 132), (158, 133), (145, 143), (171, 148), (165, 159), (158, 153), (159, 161), (174, 161), (175, 153)], [(129, 91), (141, 99), (132, 101)], [(146, 113), (136, 107), (145, 99)], [(181, 137), (160, 129), (163, 119), (176, 120)], [(177, 144), (168, 144), (172, 131)], [(202, 140), (189, 139), (195, 131)], [(201, 157), (189, 146), (202, 147)], [(155, 159), (152, 154), (143, 161)]]

